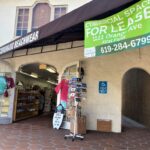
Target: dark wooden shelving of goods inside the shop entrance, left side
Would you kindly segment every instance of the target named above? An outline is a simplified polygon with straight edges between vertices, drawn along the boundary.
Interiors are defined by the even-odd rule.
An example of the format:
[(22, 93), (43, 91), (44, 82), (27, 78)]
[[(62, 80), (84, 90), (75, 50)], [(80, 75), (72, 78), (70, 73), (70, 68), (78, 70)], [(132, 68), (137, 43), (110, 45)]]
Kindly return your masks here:
[(39, 111), (39, 94), (34, 91), (16, 92), (14, 121), (34, 117)]

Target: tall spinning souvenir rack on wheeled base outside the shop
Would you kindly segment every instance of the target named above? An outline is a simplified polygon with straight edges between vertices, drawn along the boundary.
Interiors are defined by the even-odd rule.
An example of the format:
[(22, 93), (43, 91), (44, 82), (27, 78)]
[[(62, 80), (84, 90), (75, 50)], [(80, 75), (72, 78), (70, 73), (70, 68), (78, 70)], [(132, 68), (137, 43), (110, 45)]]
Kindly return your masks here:
[[(70, 102), (70, 107), (72, 107), (72, 109), (68, 109), (68, 115), (70, 116), (71, 124), (70, 134), (65, 135), (65, 139), (72, 138), (72, 141), (74, 141), (75, 139), (84, 139), (84, 136), (82, 136), (81, 134), (85, 134), (86, 132), (86, 123), (85, 117), (81, 116), (80, 102), (83, 99), (86, 99), (86, 88), (87, 85), (81, 82), (81, 78), (72, 78), (69, 81), (68, 99)], [(82, 121), (83, 118), (84, 121)]]

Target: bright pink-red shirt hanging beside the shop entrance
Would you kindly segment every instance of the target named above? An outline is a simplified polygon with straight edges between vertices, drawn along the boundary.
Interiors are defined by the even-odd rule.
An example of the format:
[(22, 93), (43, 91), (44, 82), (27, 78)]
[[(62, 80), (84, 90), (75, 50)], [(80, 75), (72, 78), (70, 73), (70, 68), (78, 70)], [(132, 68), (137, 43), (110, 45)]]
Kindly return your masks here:
[(55, 92), (58, 94), (60, 91), (60, 100), (61, 101), (68, 101), (68, 86), (69, 81), (66, 79), (63, 79), (56, 87)]

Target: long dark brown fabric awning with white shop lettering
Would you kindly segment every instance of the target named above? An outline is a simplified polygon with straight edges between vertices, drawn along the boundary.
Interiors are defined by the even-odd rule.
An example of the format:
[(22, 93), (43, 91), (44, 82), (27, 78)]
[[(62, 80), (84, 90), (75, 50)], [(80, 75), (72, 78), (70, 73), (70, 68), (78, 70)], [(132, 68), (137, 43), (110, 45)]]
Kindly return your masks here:
[(84, 21), (117, 13), (139, 0), (93, 0), (90, 3), (0, 47), (0, 54), (12, 50), (46, 46), (84, 39)]

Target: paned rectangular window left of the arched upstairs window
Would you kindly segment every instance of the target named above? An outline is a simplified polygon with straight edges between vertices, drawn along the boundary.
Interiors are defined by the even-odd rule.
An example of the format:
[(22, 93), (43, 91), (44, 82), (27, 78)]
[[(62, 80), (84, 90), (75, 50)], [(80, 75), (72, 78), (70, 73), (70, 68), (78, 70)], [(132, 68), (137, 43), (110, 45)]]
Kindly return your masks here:
[(29, 8), (19, 8), (16, 25), (16, 36), (24, 36), (28, 31)]

